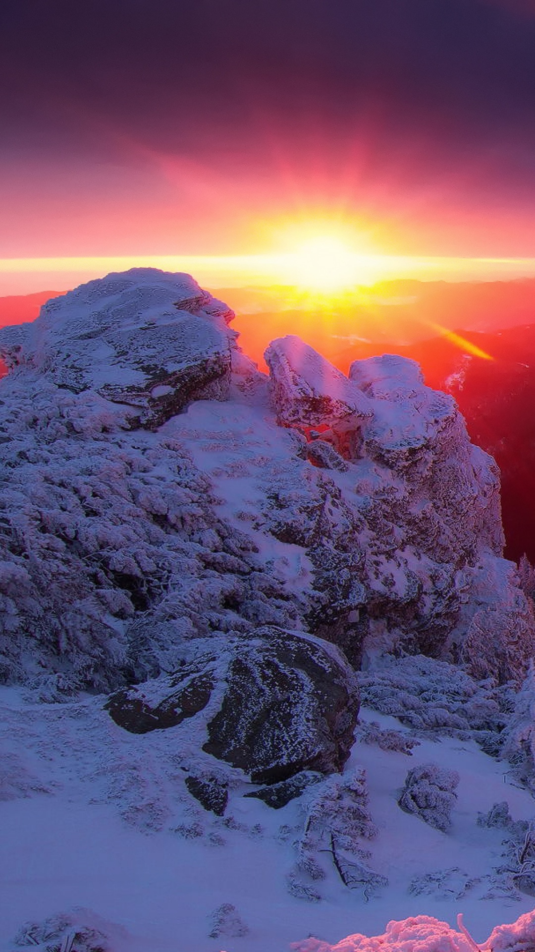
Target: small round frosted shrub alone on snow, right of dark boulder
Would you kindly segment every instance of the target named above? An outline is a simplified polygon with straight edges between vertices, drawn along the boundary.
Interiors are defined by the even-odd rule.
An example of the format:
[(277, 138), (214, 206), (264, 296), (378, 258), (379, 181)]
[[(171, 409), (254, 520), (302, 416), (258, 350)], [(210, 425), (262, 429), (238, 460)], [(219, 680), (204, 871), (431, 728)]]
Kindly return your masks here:
[(409, 770), (398, 800), (402, 810), (414, 813), (424, 823), (446, 832), (451, 826), (451, 809), (457, 799), (459, 774), (438, 764), (422, 764)]

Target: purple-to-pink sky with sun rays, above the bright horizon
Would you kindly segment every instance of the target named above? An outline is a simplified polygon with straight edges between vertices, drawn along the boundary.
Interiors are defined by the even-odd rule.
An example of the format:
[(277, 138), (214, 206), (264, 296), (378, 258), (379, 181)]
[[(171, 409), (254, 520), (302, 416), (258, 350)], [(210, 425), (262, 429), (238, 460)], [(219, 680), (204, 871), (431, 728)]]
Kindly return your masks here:
[(535, 0), (3, 4), (0, 292), (6, 260), (314, 234), (531, 259), (533, 50)]

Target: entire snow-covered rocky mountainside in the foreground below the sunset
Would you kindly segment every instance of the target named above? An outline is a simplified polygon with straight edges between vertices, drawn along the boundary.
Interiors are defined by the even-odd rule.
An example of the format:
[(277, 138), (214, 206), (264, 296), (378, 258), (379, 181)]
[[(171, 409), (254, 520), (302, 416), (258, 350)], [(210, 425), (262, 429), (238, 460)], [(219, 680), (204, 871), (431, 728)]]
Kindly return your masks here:
[(473, 949), (426, 917), (535, 894), (497, 467), (414, 362), (231, 319), (135, 269), (0, 331), (4, 947)]

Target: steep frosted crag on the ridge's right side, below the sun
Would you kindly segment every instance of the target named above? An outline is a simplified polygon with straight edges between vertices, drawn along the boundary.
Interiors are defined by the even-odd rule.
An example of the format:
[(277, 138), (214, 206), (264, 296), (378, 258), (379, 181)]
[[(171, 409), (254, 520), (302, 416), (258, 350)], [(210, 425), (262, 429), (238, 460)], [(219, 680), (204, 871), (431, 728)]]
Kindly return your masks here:
[[(324, 506), (298, 507), (321, 513), (309, 519), (308, 533), (296, 531), (295, 514), (281, 526), (277, 513), (278, 537), (308, 545), (315, 584), (328, 592), (308, 625), (343, 645), (355, 664), (367, 645), (386, 646), (389, 632), (409, 650), (462, 655), (485, 676), (486, 648), (476, 658), (467, 632), (477, 641), (479, 626), (492, 620), (496, 631), (485, 645), (494, 674), (506, 680), (507, 669), (521, 679), (534, 620), (512, 566), (500, 559), (499, 472), (470, 444), (452, 398), (426, 387), (414, 361), (392, 354), (355, 362), (348, 378), (292, 337), (274, 341), (266, 359), (278, 421), (306, 436), (315, 466), (343, 471), (342, 454), (357, 486), (357, 500), (346, 508), (347, 495), (336, 499), (324, 482)], [(352, 580), (345, 599), (343, 568)]]

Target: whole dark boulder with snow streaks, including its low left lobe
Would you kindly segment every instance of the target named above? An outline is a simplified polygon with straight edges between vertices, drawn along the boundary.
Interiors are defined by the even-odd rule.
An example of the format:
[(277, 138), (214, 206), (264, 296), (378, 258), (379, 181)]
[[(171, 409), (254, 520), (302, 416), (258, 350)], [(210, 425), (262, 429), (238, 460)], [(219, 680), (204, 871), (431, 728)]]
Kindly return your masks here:
[(277, 784), (304, 770), (342, 769), (359, 696), (354, 672), (333, 645), (260, 628), (248, 638), (215, 640), (171, 678), (118, 691), (107, 707), (132, 733), (195, 718), (208, 735), (206, 753), (239, 767), (252, 783)]

